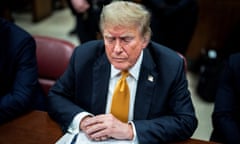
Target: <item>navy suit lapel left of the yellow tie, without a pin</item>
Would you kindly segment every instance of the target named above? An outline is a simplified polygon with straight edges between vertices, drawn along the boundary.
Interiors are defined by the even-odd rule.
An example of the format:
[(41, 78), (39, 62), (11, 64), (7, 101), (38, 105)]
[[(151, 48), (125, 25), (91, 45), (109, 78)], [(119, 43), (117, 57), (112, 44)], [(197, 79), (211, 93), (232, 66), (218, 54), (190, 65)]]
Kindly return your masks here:
[(92, 110), (94, 114), (105, 113), (109, 77), (110, 63), (104, 54), (93, 66)]

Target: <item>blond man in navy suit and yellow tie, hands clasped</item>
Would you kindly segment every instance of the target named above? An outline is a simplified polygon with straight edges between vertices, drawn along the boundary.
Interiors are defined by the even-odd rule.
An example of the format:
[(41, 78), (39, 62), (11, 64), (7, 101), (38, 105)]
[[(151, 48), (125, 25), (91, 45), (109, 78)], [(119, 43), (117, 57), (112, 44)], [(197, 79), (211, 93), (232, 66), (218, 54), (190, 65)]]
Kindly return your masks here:
[[(104, 40), (77, 47), (49, 92), (49, 114), (64, 132), (134, 143), (178, 141), (193, 134), (197, 119), (184, 61), (176, 52), (150, 42), (149, 21), (149, 12), (132, 2), (117, 1), (103, 8)], [(120, 79), (121, 71), (129, 72), (128, 84)], [(116, 112), (120, 100), (115, 101), (114, 89), (119, 79), (122, 92), (117, 94), (130, 90), (126, 92), (130, 102)]]

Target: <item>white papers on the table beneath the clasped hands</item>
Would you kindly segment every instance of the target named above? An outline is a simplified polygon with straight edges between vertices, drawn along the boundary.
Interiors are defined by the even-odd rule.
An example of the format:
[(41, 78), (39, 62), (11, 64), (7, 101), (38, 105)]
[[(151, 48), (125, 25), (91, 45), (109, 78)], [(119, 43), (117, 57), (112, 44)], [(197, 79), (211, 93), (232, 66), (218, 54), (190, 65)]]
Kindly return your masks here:
[(92, 141), (88, 139), (88, 137), (83, 132), (79, 132), (76, 135), (66, 133), (56, 142), (56, 144), (134, 144), (134, 142), (116, 139), (109, 139), (106, 141)]

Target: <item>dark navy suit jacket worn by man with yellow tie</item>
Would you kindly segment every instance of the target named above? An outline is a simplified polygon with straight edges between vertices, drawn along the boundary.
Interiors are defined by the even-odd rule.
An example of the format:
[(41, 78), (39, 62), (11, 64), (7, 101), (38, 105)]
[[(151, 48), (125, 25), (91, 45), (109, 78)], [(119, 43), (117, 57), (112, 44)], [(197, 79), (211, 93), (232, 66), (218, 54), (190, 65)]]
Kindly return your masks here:
[[(103, 41), (75, 49), (70, 65), (49, 92), (49, 114), (66, 130), (83, 111), (105, 113), (111, 65)], [(140, 143), (189, 138), (197, 127), (184, 62), (172, 50), (151, 42), (143, 52), (134, 105)], [(153, 76), (153, 81), (148, 77)]]

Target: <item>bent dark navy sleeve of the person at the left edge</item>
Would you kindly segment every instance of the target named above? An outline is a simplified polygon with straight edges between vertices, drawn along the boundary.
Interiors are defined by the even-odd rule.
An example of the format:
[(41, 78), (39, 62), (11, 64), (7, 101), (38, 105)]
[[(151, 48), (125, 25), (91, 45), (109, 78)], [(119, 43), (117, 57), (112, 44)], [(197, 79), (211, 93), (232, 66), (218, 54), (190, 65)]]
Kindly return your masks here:
[[(21, 36), (23, 38), (19, 39)], [(22, 35), (21, 31), (18, 30), (9, 37), (12, 41), (10, 45), (16, 48), (12, 51), (13, 55), (16, 51), (17, 54), (14, 55), (13, 63), (6, 63), (8, 67), (12, 67), (10, 68), (12, 70), (10, 70), (12, 74), (10, 77), (13, 82), (10, 82), (10, 79), (6, 80), (11, 83), (10, 91), (0, 96), (0, 124), (32, 108), (38, 80), (34, 39), (29, 35)]]

